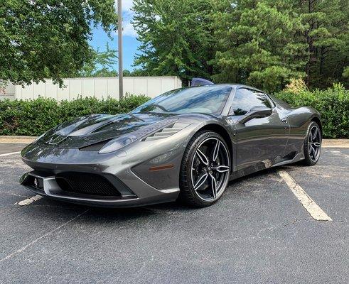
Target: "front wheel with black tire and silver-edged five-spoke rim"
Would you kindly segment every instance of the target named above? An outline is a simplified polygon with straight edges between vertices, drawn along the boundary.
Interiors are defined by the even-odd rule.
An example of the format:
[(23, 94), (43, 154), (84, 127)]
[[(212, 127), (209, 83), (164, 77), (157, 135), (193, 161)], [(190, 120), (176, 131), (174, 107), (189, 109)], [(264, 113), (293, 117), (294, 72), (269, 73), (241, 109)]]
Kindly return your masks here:
[(181, 165), (181, 200), (206, 207), (220, 199), (230, 176), (230, 152), (213, 131), (201, 131), (188, 143)]

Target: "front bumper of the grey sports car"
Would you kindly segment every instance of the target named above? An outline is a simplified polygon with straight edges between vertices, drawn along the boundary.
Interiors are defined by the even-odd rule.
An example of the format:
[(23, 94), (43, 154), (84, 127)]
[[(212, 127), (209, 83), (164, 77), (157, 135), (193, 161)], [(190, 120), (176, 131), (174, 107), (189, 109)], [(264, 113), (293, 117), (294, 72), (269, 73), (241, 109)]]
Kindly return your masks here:
[[(149, 184), (134, 173), (133, 168), (146, 160), (146, 153), (146, 151), (127, 151), (125, 149), (120, 153), (99, 155), (92, 152), (81, 152), (79, 149), (53, 149), (34, 143), (24, 148), (21, 153), (23, 162), (33, 168), (33, 171), (23, 175), (20, 182), (21, 185), (38, 195), (98, 207), (136, 207), (175, 201), (179, 194), (178, 167), (171, 170), (172, 178), (166, 179), (167, 187), (157, 188), (156, 185)], [(153, 174), (168, 174), (165, 172), (154, 172)], [(71, 192), (71, 189), (65, 188), (63, 182), (57, 181), (57, 178), (65, 173), (100, 176), (113, 185), (117, 194), (103, 196), (91, 195), (88, 194), (89, 192), (87, 194)], [(161, 180), (162, 177), (159, 176)], [(28, 182), (29, 180), (33, 182), (33, 178), (40, 180), (42, 187), (36, 187), (33, 183)], [(156, 181), (156, 178), (153, 180)], [(98, 187), (90, 185), (90, 187), (93, 186)]]

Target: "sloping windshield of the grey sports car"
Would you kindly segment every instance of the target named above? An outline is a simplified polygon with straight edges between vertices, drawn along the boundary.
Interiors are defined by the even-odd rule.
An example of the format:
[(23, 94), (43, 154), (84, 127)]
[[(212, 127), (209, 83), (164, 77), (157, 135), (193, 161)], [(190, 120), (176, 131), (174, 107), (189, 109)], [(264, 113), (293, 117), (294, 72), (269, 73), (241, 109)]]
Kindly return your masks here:
[(219, 115), (231, 91), (232, 87), (219, 85), (175, 89), (151, 99), (132, 112), (155, 112), (161, 114), (198, 112)]

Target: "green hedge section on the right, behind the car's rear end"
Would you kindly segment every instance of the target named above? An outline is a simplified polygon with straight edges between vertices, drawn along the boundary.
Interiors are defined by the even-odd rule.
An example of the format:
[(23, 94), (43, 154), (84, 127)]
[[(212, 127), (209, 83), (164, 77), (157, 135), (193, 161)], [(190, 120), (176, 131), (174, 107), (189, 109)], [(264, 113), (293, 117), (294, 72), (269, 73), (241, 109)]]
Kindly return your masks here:
[(349, 90), (340, 84), (326, 90), (279, 92), (276, 97), (292, 107), (313, 107), (321, 113), (325, 138), (349, 138)]

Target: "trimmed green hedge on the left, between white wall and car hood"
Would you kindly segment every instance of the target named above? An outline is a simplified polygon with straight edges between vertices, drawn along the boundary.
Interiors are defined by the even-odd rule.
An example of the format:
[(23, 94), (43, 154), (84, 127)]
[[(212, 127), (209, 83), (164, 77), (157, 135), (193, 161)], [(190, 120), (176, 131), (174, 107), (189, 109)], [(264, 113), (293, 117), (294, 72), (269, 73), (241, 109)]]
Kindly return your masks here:
[(0, 135), (38, 136), (53, 126), (87, 114), (124, 114), (149, 99), (128, 96), (124, 99), (79, 98), (71, 102), (39, 97), (33, 100), (0, 101)]

